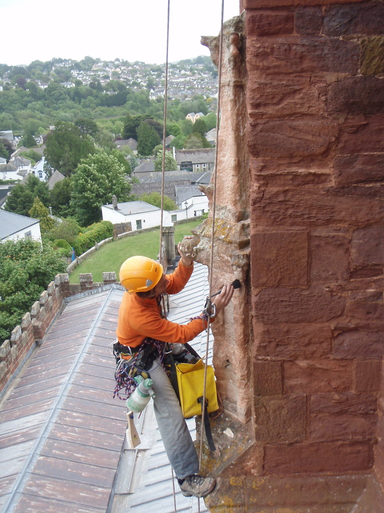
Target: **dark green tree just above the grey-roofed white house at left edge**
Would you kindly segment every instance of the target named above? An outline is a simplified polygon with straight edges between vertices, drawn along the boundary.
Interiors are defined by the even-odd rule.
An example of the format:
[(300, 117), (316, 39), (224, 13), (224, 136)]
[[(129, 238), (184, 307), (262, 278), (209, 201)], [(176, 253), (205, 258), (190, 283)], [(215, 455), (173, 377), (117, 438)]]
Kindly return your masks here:
[(50, 194), (47, 183), (40, 182), (36, 176), (29, 174), (25, 183), (16, 184), (11, 189), (7, 196), (4, 209), (8, 210), (8, 212), (14, 212), (28, 217), (29, 210), (36, 196), (38, 196), (44, 205), (49, 205)]

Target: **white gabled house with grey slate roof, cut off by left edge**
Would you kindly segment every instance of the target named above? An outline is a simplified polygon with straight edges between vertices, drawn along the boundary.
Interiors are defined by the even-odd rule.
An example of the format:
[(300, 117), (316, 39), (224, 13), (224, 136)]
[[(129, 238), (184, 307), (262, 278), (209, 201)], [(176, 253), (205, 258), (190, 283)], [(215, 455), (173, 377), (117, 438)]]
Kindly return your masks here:
[(0, 210), (0, 242), (34, 239), (41, 244), (40, 221)]

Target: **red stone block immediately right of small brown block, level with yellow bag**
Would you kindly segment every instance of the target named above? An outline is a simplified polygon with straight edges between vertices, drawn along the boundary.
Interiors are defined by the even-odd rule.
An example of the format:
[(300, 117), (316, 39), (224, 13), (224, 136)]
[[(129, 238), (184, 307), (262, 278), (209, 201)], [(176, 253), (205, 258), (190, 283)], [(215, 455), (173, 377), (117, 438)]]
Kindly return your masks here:
[(318, 393), (351, 390), (352, 366), (353, 362), (346, 360), (284, 362), (284, 391)]

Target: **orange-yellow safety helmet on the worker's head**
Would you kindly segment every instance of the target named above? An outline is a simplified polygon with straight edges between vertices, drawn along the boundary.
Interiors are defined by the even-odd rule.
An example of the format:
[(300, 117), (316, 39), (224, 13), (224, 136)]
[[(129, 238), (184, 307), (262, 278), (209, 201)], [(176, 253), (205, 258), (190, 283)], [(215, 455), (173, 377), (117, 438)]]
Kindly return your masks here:
[(163, 275), (163, 266), (147, 257), (131, 257), (120, 267), (120, 283), (126, 290), (147, 292), (159, 283)]

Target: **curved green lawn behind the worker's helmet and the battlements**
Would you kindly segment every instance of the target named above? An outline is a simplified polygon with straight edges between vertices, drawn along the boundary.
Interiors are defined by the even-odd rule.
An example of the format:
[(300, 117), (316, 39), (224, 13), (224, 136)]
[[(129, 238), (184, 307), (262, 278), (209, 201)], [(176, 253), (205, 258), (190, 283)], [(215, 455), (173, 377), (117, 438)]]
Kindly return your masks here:
[[(190, 230), (196, 228), (201, 222), (201, 218), (198, 218), (189, 223), (175, 225), (175, 244), (180, 242), (184, 235), (190, 235)], [(104, 244), (100, 249), (92, 253), (90, 257), (81, 262), (80, 265), (75, 267), (70, 274), (70, 283), (79, 283), (79, 274), (86, 272), (92, 273), (95, 283), (103, 281), (103, 272), (115, 271), (118, 277), (121, 264), (129, 257), (144, 255), (144, 257), (156, 259), (159, 253), (159, 244), (159, 228)]]

